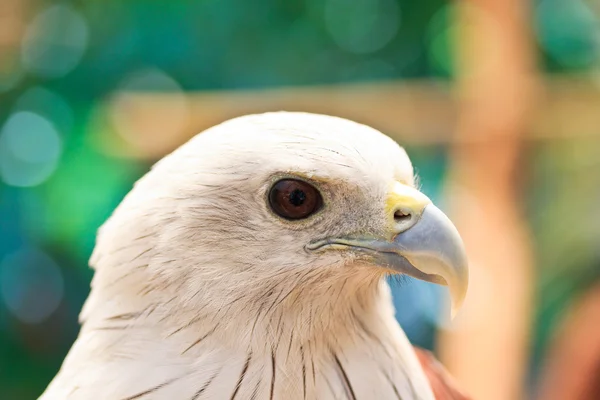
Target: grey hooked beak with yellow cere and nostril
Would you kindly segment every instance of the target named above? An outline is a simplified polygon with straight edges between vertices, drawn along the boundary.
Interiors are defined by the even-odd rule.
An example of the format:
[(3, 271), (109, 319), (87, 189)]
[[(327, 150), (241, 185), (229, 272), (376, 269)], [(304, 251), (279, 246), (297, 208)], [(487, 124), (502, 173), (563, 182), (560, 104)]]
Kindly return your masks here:
[(358, 250), (395, 273), (447, 285), (454, 316), (469, 284), (467, 256), (456, 227), (427, 196), (399, 182), (388, 193), (386, 213), (391, 239), (328, 238), (307, 248)]

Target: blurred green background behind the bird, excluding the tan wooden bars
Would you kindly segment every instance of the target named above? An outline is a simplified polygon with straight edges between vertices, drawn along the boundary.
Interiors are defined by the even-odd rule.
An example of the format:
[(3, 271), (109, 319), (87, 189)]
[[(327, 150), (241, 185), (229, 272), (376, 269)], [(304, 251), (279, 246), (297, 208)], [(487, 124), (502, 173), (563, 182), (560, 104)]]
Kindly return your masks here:
[[(547, 77), (587, 74), (599, 84), (593, 79), (600, 71), (597, 6), (535, 3), (531, 24)], [(33, 2), (28, 29), (37, 36), (27, 39), (27, 31), (0, 74), (0, 398), (36, 398), (56, 373), (78, 331), (96, 229), (154, 161), (117, 157), (99, 146), (109, 139), (97, 119), (112, 93), (143, 71), (184, 92), (452, 80), (454, 7), (437, 0)], [(44, 161), (51, 172), (36, 184), (20, 175), (23, 161), (8, 155), (14, 143), (6, 126), (19, 112), (49, 122), (60, 146)], [(49, 159), (40, 132), (19, 146)], [(446, 149), (408, 151), (424, 190), (439, 197)], [(524, 209), (539, 272), (532, 387), (565, 307), (600, 276), (599, 159), (593, 138), (535, 142), (526, 152)], [(36, 269), (20, 271), (14, 260), (27, 257), (58, 283), (40, 286)], [(410, 283), (395, 294), (429, 296), (427, 304), (439, 309), (440, 292), (430, 287)], [(35, 322), (20, 314), (57, 296), (57, 306)], [(434, 348), (431, 315), (400, 310), (398, 318), (415, 343)]]

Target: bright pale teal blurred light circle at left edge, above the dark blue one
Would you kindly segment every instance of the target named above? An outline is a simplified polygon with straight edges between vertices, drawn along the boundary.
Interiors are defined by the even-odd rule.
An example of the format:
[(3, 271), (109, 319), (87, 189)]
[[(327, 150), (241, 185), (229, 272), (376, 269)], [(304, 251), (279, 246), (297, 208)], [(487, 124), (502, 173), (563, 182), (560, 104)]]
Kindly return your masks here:
[(0, 132), (0, 176), (12, 186), (35, 186), (54, 172), (61, 138), (44, 117), (21, 111)]

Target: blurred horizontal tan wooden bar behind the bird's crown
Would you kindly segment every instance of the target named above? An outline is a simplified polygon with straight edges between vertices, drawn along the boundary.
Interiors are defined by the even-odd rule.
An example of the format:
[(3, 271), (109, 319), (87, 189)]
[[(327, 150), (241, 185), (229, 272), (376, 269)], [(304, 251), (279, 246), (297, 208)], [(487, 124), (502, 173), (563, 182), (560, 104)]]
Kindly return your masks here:
[[(600, 139), (600, 83), (586, 76), (553, 77), (542, 88), (524, 139), (568, 139), (573, 135)], [(350, 118), (380, 129), (401, 144), (477, 142), (487, 140), (489, 134), (478, 131), (454, 136), (459, 104), (450, 85), (436, 81), (188, 93), (189, 115), (183, 125), (181, 111), (172, 107), (173, 100), (180, 102), (180, 97), (179, 93), (118, 93), (111, 99), (111, 108), (122, 109), (128, 119), (126, 136), (160, 142), (147, 154), (151, 158), (229, 118), (278, 110)], [(170, 120), (178, 126), (176, 132), (168, 132), (170, 137), (161, 138), (167, 134), (164, 131), (153, 132)]]

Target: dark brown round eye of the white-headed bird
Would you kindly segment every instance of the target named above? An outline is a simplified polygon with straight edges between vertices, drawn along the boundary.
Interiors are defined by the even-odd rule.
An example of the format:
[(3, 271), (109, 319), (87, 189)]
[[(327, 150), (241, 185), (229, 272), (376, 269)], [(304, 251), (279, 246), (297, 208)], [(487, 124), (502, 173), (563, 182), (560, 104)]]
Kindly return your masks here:
[(307, 218), (323, 205), (321, 193), (309, 183), (283, 179), (271, 188), (269, 203), (275, 214), (289, 220)]

